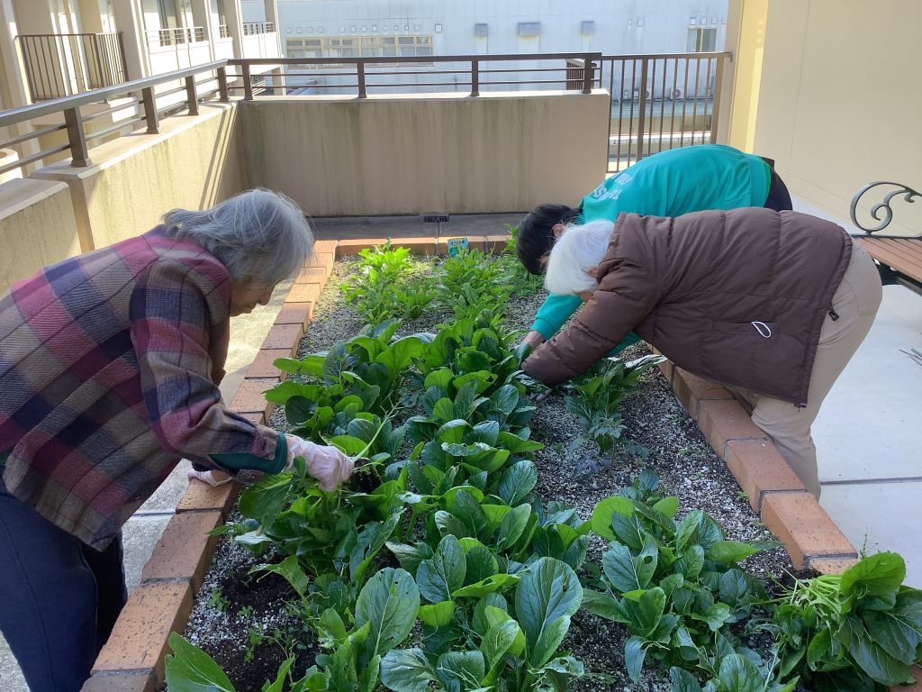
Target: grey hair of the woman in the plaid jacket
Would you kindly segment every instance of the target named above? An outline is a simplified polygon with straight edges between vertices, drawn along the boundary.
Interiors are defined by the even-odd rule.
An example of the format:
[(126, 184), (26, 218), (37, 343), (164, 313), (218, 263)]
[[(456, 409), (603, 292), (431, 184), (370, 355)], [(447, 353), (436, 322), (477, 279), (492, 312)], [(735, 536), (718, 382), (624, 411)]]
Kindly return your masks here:
[[(289, 279), (313, 257), (311, 224), (289, 197), (257, 187), (204, 211), (173, 209), (166, 233), (204, 247), (240, 284)], [(258, 272), (258, 274), (257, 274)]]

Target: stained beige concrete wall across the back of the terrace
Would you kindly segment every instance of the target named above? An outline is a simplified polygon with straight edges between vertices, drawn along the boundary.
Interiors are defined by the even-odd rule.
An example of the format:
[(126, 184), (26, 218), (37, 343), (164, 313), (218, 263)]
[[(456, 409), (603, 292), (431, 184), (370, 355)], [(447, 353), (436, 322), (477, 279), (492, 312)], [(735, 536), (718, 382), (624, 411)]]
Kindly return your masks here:
[(251, 185), (281, 190), (314, 216), (575, 204), (608, 164), (601, 90), (270, 97), (241, 109)]

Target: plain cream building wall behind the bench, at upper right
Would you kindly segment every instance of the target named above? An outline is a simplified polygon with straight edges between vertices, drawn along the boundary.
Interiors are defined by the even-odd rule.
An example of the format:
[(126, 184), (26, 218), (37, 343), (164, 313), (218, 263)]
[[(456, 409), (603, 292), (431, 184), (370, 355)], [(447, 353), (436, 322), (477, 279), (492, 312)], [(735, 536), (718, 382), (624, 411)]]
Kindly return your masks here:
[[(922, 3), (767, 4), (753, 151), (774, 158), (792, 195), (840, 219), (862, 185), (922, 189)], [(922, 205), (893, 208), (892, 232), (922, 231)]]

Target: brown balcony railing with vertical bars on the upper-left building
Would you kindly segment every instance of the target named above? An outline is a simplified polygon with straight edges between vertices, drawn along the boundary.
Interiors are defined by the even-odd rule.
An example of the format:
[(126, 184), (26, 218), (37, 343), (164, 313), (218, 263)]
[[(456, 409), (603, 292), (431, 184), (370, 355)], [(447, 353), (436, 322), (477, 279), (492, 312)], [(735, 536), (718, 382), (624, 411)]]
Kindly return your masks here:
[(60, 99), (128, 79), (122, 32), (16, 37), (32, 101)]

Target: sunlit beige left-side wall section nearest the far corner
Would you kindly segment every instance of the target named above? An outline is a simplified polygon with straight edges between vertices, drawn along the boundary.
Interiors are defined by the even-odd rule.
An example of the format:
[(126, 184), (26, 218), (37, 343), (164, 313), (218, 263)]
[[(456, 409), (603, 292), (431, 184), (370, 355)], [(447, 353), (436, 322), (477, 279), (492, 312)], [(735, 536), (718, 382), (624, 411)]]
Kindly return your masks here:
[(90, 150), (89, 168), (61, 161), (32, 173), (70, 186), (84, 251), (146, 233), (170, 209), (207, 209), (247, 183), (237, 108), (201, 107)]

